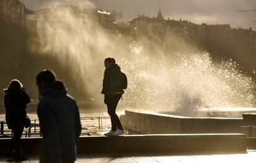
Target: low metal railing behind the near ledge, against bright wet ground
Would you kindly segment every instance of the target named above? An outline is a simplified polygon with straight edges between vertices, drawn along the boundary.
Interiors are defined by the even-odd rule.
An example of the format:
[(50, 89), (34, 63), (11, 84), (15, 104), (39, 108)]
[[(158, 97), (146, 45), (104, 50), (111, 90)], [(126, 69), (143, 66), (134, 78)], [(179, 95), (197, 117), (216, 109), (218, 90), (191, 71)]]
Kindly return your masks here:
[[(82, 135), (90, 135), (90, 133), (96, 133), (100, 131), (106, 130), (105, 128), (108, 127), (103, 127), (103, 118), (106, 118), (109, 120), (109, 117), (80, 117), (80, 121), (82, 124)], [(32, 135), (40, 135), (41, 134), (41, 127), (39, 124), (38, 119), (32, 119), (31, 120), (32, 124), (28, 129), (24, 129), (23, 135), (25, 137), (32, 137)], [(10, 129), (7, 129), (7, 124), (6, 121), (1, 121), (0, 122), (0, 135), (7, 135), (7, 136), (12, 136), (13, 133)]]

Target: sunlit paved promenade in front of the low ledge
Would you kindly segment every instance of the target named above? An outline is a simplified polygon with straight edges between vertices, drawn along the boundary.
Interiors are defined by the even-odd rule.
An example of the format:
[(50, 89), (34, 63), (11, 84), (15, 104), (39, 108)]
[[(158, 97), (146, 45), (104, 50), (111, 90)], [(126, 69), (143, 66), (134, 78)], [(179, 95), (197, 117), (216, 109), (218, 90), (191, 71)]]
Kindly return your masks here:
[[(116, 162), (116, 163), (157, 163), (157, 162), (171, 162), (171, 163), (251, 163), (256, 161), (256, 150), (248, 150), (244, 154), (192, 154), (192, 153), (100, 153), (90, 154), (85, 153), (78, 156), (75, 163), (104, 163), (104, 162)], [(8, 160), (8, 158), (0, 158), (1, 163), (15, 162)], [(39, 163), (38, 156), (30, 156), (28, 161), (23, 163)]]

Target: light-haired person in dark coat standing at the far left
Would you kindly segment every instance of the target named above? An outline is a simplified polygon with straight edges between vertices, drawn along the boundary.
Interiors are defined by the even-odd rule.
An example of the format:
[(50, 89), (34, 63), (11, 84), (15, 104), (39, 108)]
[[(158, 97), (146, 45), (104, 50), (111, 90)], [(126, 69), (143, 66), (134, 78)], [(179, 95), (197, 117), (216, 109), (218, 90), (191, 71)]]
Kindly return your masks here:
[(25, 92), (22, 83), (17, 79), (13, 79), (7, 89), (4, 89), (4, 92), (6, 92), (4, 96), (6, 123), (8, 129), (14, 133), (7, 154), (16, 161), (25, 161), (27, 157), (23, 156), (20, 151), (20, 138), (26, 125), (26, 108), (27, 104), (30, 103), (30, 97)]

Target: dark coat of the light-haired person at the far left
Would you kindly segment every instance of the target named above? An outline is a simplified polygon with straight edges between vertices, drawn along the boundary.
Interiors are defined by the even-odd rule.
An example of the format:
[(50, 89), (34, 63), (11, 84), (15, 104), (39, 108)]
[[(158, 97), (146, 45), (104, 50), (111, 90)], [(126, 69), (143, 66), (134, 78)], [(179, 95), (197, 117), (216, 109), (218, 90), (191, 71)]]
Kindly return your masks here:
[(6, 122), (9, 129), (15, 127), (24, 127), (25, 117), (27, 115), (27, 103), (30, 103), (30, 97), (23, 89), (4, 90), (4, 106), (6, 108)]

